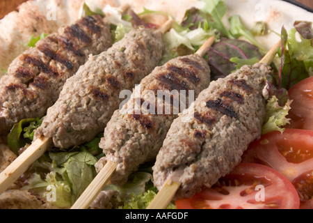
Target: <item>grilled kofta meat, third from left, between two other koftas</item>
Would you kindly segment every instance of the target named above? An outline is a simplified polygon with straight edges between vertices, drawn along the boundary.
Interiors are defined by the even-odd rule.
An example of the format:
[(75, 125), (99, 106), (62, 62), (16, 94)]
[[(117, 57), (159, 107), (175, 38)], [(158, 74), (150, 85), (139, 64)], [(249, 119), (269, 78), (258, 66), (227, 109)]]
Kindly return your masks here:
[(198, 54), (179, 56), (155, 68), (107, 124), (99, 144), (106, 156), (97, 169), (111, 160), (118, 164), (111, 183), (125, 183), (140, 164), (155, 159), (172, 121), (188, 107), (191, 93), (197, 97), (209, 82), (209, 65)]

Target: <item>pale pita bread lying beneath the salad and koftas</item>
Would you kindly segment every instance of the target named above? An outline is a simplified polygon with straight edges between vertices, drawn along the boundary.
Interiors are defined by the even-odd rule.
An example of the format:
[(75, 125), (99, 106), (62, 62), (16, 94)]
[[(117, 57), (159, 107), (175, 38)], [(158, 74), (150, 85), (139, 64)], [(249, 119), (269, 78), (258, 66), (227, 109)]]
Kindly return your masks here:
[[(74, 23), (79, 18), (82, 3), (83, 0), (33, 0), (23, 3), (18, 10), (6, 15), (0, 20), (0, 68), (8, 68), (13, 59), (28, 49), (23, 43), (28, 43), (32, 35), (53, 33), (61, 26)], [(129, 1), (86, 0), (86, 3), (92, 10), (95, 10), (104, 8), (106, 4), (120, 6)], [(227, 17), (241, 15), (241, 20), (248, 29), (252, 29), (255, 22), (263, 20), (267, 23), (268, 29), (280, 33), (282, 25), (288, 30), (293, 27), (296, 20), (313, 21), (313, 13), (281, 0), (225, 0), (225, 3), (228, 7), (227, 15), (224, 17), (226, 25)], [(135, 13), (143, 12), (143, 7), (145, 7), (169, 13), (177, 22), (182, 21), (188, 8), (204, 6), (204, 2), (199, 0), (132, 0), (129, 4)], [(56, 20), (47, 19), (49, 10), (51, 10), (49, 6), (55, 7)], [(147, 15), (143, 19), (158, 25), (167, 20), (163, 15)], [(270, 49), (279, 40), (279, 36), (269, 33), (266, 36), (257, 37), (257, 39), (266, 49)], [(1, 75), (4, 75), (3, 71), (0, 71), (0, 77)], [(14, 158), (15, 155), (8, 150), (7, 146), (0, 145), (0, 171)], [(26, 208), (53, 208), (36, 202), (31, 196), (28, 192), (9, 191), (0, 196), (0, 208), (3, 207), (1, 206), (3, 202), (5, 208), (23, 208), (25, 206)], [(30, 201), (34, 202), (29, 203)], [(16, 202), (20, 204), (16, 206)]]

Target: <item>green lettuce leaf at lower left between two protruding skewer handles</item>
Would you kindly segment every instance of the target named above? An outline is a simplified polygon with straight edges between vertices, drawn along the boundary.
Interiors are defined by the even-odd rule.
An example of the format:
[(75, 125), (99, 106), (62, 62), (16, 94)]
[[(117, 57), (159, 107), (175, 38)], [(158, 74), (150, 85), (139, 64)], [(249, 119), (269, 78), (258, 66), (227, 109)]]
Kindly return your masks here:
[(22, 190), (31, 190), (56, 206), (70, 208), (95, 178), (97, 159), (86, 151), (48, 155), (50, 160), (39, 159), (33, 164), (33, 174)]

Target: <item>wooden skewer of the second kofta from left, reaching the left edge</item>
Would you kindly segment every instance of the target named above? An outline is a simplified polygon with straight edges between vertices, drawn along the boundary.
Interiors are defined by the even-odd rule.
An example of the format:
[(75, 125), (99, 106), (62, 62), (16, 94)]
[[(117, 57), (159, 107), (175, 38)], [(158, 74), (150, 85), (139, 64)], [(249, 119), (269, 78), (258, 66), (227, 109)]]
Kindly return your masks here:
[[(119, 7), (122, 12), (125, 12), (129, 8), (129, 4), (125, 3)], [(165, 31), (166, 28), (170, 29), (172, 25), (172, 20), (166, 22), (162, 29)], [(51, 139), (47, 137), (42, 137), (41, 139), (36, 139), (33, 141), (31, 146), (24, 151), (17, 159), (15, 159), (4, 171), (0, 174), (0, 194), (5, 192), (10, 185), (12, 185), (15, 180), (19, 178), (24, 172), (41, 157), (51, 146)]]

